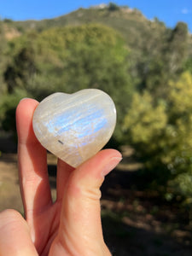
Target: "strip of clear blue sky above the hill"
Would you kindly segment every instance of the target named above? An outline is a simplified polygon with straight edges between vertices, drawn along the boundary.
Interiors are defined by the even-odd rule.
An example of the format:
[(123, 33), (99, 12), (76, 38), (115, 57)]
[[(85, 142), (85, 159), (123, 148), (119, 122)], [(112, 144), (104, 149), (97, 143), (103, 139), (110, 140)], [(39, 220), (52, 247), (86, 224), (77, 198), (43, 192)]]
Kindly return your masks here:
[(175, 26), (177, 21), (184, 21), (192, 32), (192, 0), (0, 0), (0, 17), (12, 20), (49, 19), (80, 7), (109, 2), (140, 9), (148, 19), (157, 17), (169, 27)]

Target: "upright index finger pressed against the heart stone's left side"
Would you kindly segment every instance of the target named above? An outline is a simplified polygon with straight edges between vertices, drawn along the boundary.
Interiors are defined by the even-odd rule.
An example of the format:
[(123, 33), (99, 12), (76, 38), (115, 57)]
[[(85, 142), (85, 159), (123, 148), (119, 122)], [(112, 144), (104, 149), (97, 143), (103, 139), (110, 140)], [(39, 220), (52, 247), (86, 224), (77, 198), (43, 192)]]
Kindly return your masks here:
[(38, 143), (32, 129), (32, 115), (38, 102), (22, 100), (16, 109), (20, 190), (26, 219), (43, 212), (51, 203), (46, 150)]

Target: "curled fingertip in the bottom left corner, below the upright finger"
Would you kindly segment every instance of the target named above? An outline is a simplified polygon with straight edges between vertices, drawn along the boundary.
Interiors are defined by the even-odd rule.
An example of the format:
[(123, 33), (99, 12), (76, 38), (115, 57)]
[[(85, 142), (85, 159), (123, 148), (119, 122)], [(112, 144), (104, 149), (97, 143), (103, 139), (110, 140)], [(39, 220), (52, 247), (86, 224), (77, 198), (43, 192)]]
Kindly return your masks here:
[(14, 210), (0, 213), (0, 255), (38, 256), (26, 221)]

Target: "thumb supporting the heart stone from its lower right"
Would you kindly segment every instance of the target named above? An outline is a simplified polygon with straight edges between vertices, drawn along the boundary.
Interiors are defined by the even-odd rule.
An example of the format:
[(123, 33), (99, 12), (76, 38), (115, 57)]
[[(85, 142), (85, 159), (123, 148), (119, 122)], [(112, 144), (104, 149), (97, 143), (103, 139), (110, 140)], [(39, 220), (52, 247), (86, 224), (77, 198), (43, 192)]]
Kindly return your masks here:
[(69, 178), (62, 202), (60, 229), (55, 240), (60, 242), (66, 254), (110, 255), (102, 236), (100, 187), (104, 176), (121, 159), (116, 150), (102, 150), (79, 166)]

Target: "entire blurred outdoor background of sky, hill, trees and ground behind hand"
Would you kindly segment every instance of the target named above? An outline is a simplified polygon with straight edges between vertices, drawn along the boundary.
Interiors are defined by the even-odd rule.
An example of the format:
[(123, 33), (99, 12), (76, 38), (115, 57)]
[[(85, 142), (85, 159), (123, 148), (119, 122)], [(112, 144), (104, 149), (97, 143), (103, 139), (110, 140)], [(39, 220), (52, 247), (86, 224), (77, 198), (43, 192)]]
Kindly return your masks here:
[[(179, 2), (179, 3), (178, 3)], [(192, 3), (0, 1), (0, 210), (23, 213), (15, 108), (62, 91), (106, 91), (124, 160), (102, 185), (113, 255), (192, 253)], [(55, 198), (56, 160), (48, 155)]]

